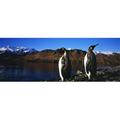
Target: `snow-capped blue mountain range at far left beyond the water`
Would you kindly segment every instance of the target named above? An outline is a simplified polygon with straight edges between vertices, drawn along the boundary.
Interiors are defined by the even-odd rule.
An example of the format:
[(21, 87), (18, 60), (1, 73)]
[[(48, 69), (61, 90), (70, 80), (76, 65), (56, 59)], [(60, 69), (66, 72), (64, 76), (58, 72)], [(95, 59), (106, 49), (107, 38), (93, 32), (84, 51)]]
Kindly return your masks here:
[(37, 50), (32, 48), (26, 48), (26, 47), (1, 47), (0, 48), (0, 54), (2, 53), (13, 53), (13, 54), (27, 54), (27, 53), (34, 53), (37, 52)]

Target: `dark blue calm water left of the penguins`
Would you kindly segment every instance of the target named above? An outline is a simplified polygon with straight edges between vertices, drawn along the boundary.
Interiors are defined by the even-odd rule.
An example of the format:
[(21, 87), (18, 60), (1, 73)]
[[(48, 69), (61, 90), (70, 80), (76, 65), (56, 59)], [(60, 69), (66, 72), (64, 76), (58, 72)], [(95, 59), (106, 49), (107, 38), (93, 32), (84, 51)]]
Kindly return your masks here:
[(0, 81), (58, 81), (57, 64), (0, 65)]

